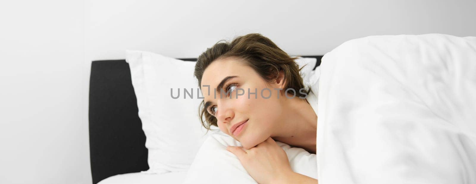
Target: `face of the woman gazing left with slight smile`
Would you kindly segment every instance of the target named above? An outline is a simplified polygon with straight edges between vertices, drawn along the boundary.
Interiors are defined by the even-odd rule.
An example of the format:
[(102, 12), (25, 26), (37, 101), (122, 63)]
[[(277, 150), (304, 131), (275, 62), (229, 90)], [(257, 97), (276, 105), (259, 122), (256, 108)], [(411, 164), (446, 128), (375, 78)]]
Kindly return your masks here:
[[(220, 83), (223, 85), (218, 86)], [(205, 108), (217, 118), (218, 128), (222, 132), (240, 141), (247, 149), (272, 136), (275, 129), (273, 125), (282, 114), (279, 93), (274, 88), (282, 88), (282, 82), (267, 83), (238, 58), (229, 57), (208, 65), (201, 85)], [(222, 92), (214, 92), (218, 88)], [(265, 88), (269, 90), (261, 93)], [(246, 123), (233, 131), (233, 125), (243, 121)]]

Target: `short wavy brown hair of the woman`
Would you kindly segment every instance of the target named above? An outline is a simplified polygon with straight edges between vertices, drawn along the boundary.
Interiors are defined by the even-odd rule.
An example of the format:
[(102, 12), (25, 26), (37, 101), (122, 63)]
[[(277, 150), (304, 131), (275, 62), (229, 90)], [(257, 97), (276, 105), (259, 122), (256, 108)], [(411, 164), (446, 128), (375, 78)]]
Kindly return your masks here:
[[(310, 88), (307, 88), (306, 94), (297, 93), (300, 89), (304, 88), (303, 79), (299, 73), (302, 67), (299, 68), (298, 64), (294, 61), (297, 57), (290, 57), (269, 38), (253, 33), (236, 37), (231, 43), (222, 41), (225, 40), (218, 41), (214, 46), (207, 48), (205, 52), (198, 56), (194, 71), (194, 75), (198, 79), (198, 87), (201, 87), (203, 72), (213, 61), (228, 57), (238, 57), (268, 82), (278, 78), (278, 71), (282, 71), (285, 82), (282, 92), (292, 88), (295, 90), (297, 97), (305, 97), (306, 94), (309, 94)], [(295, 95), (292, 90), (289, 90), (288, 93)], [(198, 112), (200, 121), (206, 129), (210, 130), (212, 125), (218, 127), (215, 116), (209, 114), (204, 108), (204, 101), (200, 103)]]

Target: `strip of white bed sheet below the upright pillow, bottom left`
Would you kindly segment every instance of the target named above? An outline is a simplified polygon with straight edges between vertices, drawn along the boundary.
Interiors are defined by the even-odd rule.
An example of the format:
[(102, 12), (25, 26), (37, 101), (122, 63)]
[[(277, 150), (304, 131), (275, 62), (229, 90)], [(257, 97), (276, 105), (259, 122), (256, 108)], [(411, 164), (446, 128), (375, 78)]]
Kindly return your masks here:
[(127, 173), (114, 175), (98, 184), (181, 184), (187, 172), (169, 172), (164, 174)]

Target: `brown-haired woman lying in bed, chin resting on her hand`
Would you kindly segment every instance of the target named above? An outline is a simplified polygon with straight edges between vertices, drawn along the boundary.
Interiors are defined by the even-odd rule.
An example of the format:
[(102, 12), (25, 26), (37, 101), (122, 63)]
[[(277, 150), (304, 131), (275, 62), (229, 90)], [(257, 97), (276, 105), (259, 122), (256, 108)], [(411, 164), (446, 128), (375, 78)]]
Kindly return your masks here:
[(258, 183), (317, 183), (293, 172), (274, 141), (316, 153), (317, 115), (306, 99), (315, 94), (295, 59), (267, 37), (248, 34), (208, 48), (195, 66), (202, 124), (242, 144), (227, 149)]

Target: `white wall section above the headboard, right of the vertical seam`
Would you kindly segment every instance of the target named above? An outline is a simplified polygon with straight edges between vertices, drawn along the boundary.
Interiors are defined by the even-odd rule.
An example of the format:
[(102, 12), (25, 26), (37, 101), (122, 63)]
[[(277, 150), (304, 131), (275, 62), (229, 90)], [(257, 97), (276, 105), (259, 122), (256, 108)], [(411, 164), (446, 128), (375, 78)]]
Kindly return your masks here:
[(352, 38), (476, 36), (475, 0), (93, 0), (91, 59), (125, 49), (197, 57), (218, 40), (262, 33), (289, 54), (323, 55)]

